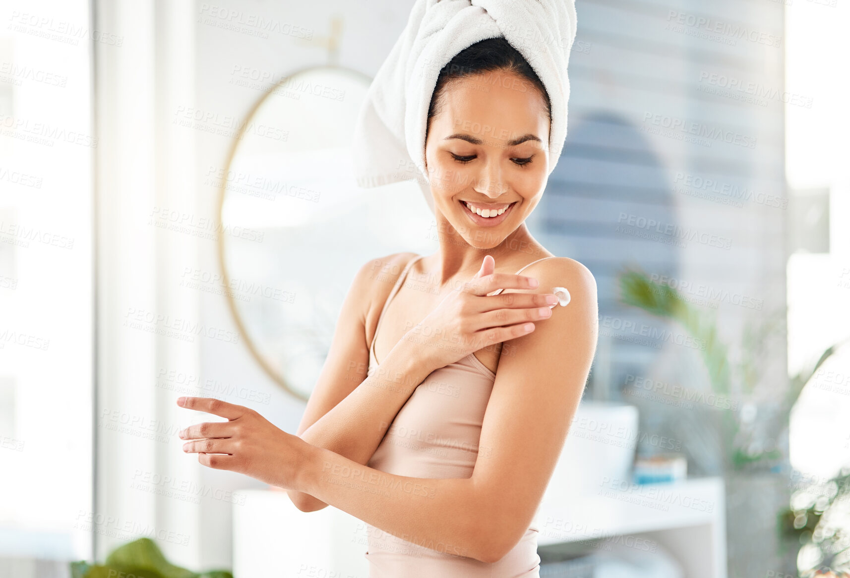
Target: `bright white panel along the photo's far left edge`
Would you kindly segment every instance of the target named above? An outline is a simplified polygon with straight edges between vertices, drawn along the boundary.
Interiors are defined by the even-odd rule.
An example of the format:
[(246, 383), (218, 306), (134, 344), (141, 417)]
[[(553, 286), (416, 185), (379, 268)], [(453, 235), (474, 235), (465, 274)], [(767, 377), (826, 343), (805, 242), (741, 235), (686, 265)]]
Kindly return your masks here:
[[(3, 2), (0, 20), (0, 558), (82, 558), (98, 145), (88, 3)], [(0, 575), (34, 570), (8, 564)]]

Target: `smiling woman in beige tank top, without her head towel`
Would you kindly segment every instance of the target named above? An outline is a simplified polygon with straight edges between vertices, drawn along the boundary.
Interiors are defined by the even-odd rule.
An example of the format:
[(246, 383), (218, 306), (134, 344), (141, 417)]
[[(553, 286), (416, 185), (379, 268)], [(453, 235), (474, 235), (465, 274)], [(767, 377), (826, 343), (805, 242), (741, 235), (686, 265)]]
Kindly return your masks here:
[[(550, 122), (545, 88), (504, 38), (457, 54), (425, 142), (439, 251), (360, 269), (298, 436), (181, 398), (229, 418), (181, 432), (184, 449), (288, 490), (305, 512), (362, 519), (373, 578), (538, 575), (532, 519), (598, 331), (591, 273), (524, 223), (547, 181)], [(558, 286), (571, 300), (552, 309)]]

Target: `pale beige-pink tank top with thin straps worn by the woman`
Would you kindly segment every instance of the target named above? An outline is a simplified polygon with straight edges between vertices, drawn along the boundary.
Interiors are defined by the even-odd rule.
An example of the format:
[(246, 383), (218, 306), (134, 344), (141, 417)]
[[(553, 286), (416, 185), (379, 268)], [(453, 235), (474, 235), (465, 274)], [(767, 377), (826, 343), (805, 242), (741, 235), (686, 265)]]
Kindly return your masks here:
[[(401, 271), (378, 316), (375, 337), (387, 306), (411, 265)], [(544, 257), (547, 259), (551, 257)], [(543, 259), (528, 263), (525, 267)], [(519, 269), (519, 274), (523, 269)], [(501, 292), (501, 289), (492, 293)], [(377, 368), (375, 337), (369, 347), (369, 371)], [(468, 354), (432, 371), (396, 414), (371, 456), (369, 467), (399, 476), (448, 479), (470, 478), (479, 454), (481, 424), (496, 374)], [(365, 524), (370, 578), (533, 578), (540, 575), (538, 529), (531, 524), (513, 549), (498, 562), (467, 558), (445, 544), (414, 544)]]

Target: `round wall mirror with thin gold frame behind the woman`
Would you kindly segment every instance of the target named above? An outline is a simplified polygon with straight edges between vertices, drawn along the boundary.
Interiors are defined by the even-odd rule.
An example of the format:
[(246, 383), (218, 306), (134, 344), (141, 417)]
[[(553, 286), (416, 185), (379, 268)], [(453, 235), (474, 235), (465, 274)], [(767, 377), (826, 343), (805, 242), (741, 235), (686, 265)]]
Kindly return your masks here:
[(354, 180), (352, 135), (370, 82), (337, 66), (283, 78), (252, 107), (218, 175), (229, 309), (253, 359), (298, 399), (314, 388), (357, 270), (438, 245), (415, 181)]

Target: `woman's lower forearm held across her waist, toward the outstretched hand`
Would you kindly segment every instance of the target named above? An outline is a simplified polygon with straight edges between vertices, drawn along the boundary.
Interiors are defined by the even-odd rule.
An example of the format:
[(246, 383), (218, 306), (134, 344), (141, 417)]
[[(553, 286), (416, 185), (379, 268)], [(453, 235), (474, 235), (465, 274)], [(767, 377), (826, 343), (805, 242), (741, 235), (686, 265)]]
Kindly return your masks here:
[(489, 508), (472, 479), (397, 476), (323, 448), (310, 453), (299, 472), (302, 491), (418, 546), (490, 561)]

